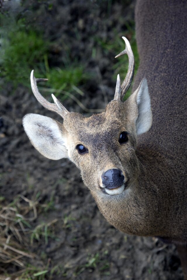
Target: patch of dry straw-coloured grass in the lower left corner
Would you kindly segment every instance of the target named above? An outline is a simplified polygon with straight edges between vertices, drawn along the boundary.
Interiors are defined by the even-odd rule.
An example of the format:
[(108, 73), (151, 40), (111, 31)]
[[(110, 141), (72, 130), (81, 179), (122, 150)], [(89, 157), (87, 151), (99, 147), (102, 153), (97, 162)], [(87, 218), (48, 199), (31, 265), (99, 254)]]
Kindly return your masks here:
[[(30, 200), (19, 195), (11, 204), (0, 205), (0, 280), (19, 279), (29, 271), (28, 263), (37, 260), (30, 252), (30, 236), (33, 234), (31, 223), (37, 219), (39, 199)], [(5, 204), (5, 203), (4, 203)], [(48, 223), (56, 223), (57, 219)], [(39, 227), (40, 225), (37, 225)], [(6, 276), (7, 275), (7, 276)]]

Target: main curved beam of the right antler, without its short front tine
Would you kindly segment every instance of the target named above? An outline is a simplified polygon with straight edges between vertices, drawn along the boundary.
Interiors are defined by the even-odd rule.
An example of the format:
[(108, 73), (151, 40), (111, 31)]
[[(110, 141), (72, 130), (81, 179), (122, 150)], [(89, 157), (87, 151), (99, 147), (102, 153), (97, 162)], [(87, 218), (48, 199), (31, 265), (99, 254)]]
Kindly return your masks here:
[(134, 76), (134, 55), (131, 49), (131, 45), (129, 43), (129, 41), (127, 40), (127, 38), (122, 37), (123, 40), (125, 41), (125, 49), (119, 53), (119, 55), (116, 55), (116, 57), (120, 57), (121, 55), (127, 54), (129, 57), (129, 66), (128, 66), (128, 71), (127, 71), (127, 75), (121, 85), (121, 100), (123, 100), (124, 95), (126, 94), (127, 90), (129, 89), (133, 76)]

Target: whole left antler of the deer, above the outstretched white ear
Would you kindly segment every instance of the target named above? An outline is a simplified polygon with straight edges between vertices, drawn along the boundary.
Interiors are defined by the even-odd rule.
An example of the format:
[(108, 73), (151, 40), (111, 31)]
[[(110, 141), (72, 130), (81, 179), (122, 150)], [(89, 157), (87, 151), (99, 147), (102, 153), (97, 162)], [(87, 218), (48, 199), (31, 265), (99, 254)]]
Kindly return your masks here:
[[(62, 118), (65, 117), (65, 115), (67, 113), (69, 113), (67, 111), (67, 109), (56, 99), (53, 98), (55, 104), (50, 103), (49, 101), (47, 101), (39, 92), (38, 88), (37, 88), (37, 83), (41, 82), (41, 81), (47, 81), (48, 79), (43, 79), (43, 78), (35, 78), (34, 77), (34, 70), (32, 70), (31, 74), (30, 74), (30, 82), (31, 82), (31, 88), (32, 88), (32, 92), (34, 94), (34, 96), (36, 97), (36, 99), (38, 100), (38, 102), (44, 106), (44, 108), (56, 112), (57, 114), (59, 114)], [(54, 95), (52, 96), (54, 97)]]

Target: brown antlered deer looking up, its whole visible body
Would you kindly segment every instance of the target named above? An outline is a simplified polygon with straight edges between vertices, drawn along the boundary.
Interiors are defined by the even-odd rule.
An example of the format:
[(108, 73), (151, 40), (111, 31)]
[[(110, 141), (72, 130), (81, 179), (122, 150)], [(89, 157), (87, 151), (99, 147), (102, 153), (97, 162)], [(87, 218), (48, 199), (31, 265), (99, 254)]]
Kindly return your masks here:
[[(37, 88), (37, 83), (47, 79), (35, 78), (32, 70), (33, 94), (42, 106), (58, 113), (63, 123), (30, 113), (24, 116), (23, 127), (42, 155), (75, 163), (99, 210), (116, 229), (175, 244), (187, 280), (187, 66), (183, 47), (187, 24), (185, 1), (174, 2), (137, 0), (140, 66), (126, 101), (134, 55), (122, 37), (125, 49), (116, 57), (128, 55), (128, 71), (122, 85), (118, 74), (114, 99), (105, 111), (90, 117), (69, 112), (53, 94), (54, 103), (50, 103)], [(167, 20), (165, 13), (170, 15)], [(178, 25), (171, 25), (179, 16)]]

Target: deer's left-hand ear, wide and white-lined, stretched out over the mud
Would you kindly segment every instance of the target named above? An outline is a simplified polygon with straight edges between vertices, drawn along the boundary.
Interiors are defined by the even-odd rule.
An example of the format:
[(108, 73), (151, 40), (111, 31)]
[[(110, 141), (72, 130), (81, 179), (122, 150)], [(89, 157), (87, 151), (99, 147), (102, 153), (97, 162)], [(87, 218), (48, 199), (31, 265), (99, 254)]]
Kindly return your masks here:
[(68, 157), (63, 124), (49, 117), (28, 114), (23, 118), (23, 127), (32, 145), (42, 155), (51, 160)]

